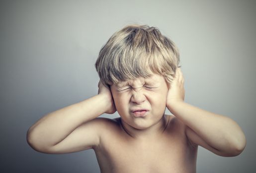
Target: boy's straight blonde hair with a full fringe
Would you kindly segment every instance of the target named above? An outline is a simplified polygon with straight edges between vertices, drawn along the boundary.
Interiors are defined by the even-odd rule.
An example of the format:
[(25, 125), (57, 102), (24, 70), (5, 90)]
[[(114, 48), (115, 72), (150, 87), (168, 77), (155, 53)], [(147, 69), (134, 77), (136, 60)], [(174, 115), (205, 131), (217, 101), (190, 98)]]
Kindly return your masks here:
[(127, 25), (114, 33), (100, 49), (95, 63), (103, 85), (163, 75), (171, 84), (179, 63), (175, 44), (156, 27)]

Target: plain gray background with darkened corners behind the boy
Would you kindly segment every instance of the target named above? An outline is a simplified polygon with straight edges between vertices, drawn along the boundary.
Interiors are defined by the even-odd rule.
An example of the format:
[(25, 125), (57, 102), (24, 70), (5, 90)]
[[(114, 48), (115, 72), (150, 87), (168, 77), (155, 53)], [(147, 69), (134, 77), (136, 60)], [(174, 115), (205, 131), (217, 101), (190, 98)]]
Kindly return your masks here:
[(28, 146), (26, 131), (43, 115), (97, 93), (99, 49), (131, 23), (156, 26), (177, 44), (186, 102), (231, 117), (247, 136), (237, 157), (200, 147), (197, 172), (253, 172), (254, 0), (1, 0), (1, 173), (99, 172), (93, 150), (42, 154)]

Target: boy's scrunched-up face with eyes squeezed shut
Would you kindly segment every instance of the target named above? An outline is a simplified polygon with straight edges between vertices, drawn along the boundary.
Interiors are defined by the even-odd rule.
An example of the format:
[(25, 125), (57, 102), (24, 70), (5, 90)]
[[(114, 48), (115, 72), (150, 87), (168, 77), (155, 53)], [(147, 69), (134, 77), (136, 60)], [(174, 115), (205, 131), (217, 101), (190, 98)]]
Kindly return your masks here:
[(168, 86), (161, 75), (120, 82), (111, 86), (111, 92), (122, 121), (133, 128), (147, 129), (165, 113)]

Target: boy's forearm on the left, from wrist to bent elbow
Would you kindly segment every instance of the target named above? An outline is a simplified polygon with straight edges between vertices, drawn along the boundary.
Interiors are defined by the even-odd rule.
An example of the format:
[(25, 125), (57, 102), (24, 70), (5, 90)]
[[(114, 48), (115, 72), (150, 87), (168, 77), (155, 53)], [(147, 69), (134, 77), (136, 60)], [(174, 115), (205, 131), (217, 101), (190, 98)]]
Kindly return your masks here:
[(28, 142), (39, 147), (59, 143), (83, 123), (103, 114), (107, 103), (102, 100), (101, 95), (96, 95), (49, 113), (28, 130)]

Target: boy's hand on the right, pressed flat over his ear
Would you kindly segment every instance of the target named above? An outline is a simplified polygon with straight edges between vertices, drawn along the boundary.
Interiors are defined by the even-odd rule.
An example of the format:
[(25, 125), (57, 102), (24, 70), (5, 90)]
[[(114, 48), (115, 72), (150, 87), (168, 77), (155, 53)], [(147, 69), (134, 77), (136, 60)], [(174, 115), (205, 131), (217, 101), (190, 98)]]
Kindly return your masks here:
[(171, 108), (174, 103), (183, 102), (185, 97), (184, 79), (180, 68), (176, 69), (175, 77), (171, 83), (167, 94), (167, 108)]

